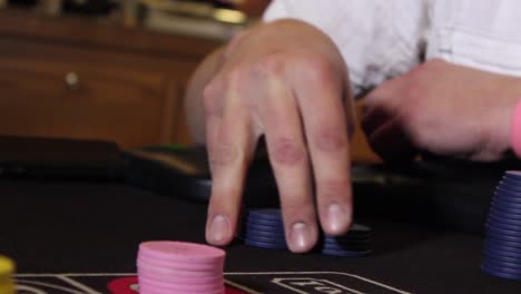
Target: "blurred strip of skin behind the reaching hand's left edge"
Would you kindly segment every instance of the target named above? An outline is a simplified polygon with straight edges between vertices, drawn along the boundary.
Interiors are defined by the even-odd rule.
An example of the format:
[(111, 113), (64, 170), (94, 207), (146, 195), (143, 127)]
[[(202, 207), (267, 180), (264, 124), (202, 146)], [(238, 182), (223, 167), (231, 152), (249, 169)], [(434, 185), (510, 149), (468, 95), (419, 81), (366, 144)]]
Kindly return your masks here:
[(190, 78), (185, 95), (186, 117), (191, 139), (196, 144), (205, 144), (205, 115), (203, 107), (203, 89), (223, 62), (224, 48), (220, 47), (203, 60)]

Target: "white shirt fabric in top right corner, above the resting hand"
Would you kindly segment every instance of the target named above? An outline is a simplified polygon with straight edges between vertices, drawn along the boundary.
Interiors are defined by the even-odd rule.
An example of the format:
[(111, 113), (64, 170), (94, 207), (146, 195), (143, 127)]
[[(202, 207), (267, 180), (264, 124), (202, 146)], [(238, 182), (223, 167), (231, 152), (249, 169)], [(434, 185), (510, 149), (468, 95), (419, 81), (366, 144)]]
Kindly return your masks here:
[(441, 0), (430, 10), (427, 59), (521, 77), (521, 1)]

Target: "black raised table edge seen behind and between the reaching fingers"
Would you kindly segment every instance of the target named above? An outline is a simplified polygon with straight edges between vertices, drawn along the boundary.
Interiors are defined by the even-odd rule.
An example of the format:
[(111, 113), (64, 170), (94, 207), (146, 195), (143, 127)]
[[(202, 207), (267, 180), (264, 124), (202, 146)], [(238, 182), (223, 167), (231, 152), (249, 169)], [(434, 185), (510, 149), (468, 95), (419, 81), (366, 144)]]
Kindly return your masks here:
[[(160, 195), (206, 203), (212, 179), (204, 147), (146, 147), (124, 153), (127, 182)], [(346, 167), (347, 168), (347, 167)], [(520, 161), (479, 164), (430, 158), (400, 166), (351, 167), (355, 214), (385, 216), (481, 233), (505, 169)], [(278, 194), (267, 158), (256, 158), (244, 193), (247, 207), (275, 207)]]

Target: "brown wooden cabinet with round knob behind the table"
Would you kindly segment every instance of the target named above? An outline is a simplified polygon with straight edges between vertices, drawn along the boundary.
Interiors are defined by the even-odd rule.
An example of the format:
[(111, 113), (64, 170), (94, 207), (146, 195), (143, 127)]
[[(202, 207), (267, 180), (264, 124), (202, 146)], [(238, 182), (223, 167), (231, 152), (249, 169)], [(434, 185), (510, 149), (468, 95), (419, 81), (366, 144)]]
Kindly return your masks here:
[(0, 11), (0, 134), (186, 144), (184, 89), (218, 45)]

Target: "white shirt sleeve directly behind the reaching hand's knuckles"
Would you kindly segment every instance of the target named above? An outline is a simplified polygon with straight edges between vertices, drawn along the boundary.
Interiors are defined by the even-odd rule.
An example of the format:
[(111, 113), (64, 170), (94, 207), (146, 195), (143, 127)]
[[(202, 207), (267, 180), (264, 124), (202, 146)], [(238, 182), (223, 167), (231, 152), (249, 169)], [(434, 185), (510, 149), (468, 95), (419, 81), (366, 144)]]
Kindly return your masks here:
[(423, 0), (274, 0), (264, 21), (293, 18), (335, 42), (355, 96), (421, 61), (426, 30)]

